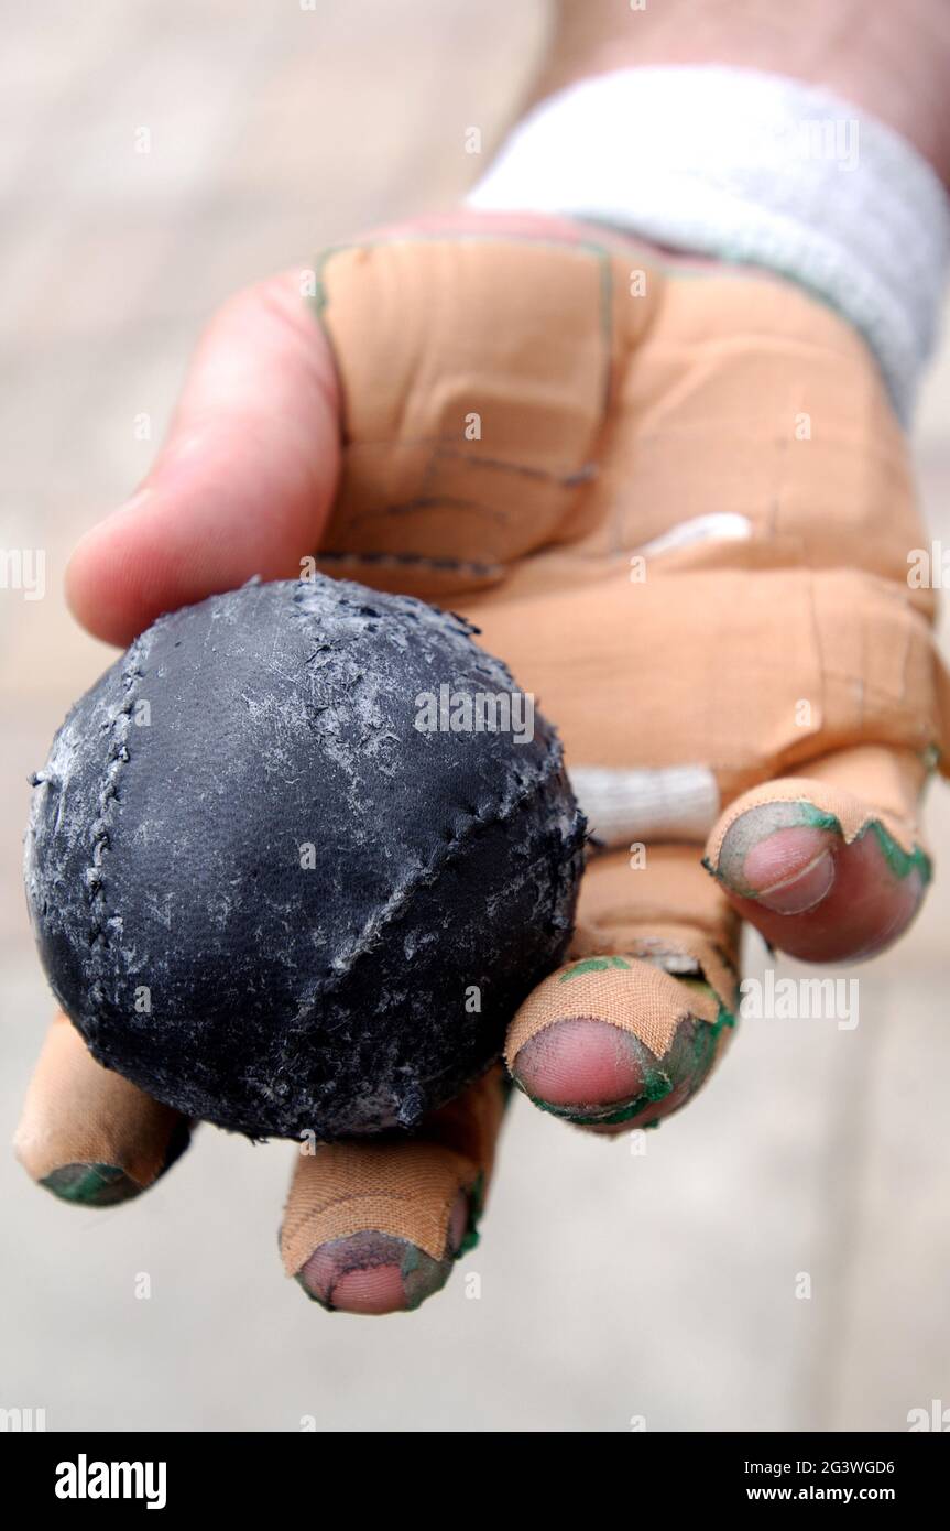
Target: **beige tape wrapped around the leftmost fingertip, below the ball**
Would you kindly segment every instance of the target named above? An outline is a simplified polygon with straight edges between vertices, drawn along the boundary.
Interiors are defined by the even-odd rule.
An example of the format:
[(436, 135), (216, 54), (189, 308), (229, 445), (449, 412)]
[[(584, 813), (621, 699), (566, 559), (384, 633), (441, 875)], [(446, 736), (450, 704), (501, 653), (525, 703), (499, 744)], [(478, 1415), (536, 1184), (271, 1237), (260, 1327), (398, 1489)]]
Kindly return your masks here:
[(181, 1121), (171, 1107), (102, 1069), (58, 1015), (31, 1079), (14, 1148), (34, 1180), (89, 1164), (124, 1170), (145, 1188), (162, 1171)]

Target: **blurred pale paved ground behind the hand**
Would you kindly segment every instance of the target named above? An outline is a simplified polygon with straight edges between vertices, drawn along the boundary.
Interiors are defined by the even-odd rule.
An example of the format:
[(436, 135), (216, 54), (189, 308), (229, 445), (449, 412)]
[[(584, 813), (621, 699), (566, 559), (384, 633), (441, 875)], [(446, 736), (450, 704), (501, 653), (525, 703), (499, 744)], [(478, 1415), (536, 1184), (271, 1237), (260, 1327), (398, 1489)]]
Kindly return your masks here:
[[(0, 589), (5, 1142), (50, 1010), (26, 778), (112, 657), (64, 608), (67, 553), (145, 472), (214, 305), (451, 204), (546, 24), (542, 0), (306, 5), (0, 5), (0, 548), (46, 551), (43, 600)], [(950, 548), (947, 346), (918, 461)], [(861, 969), (855, 1030), (747, 1021), (643, 1154), (516, 1101), (482, 1243), (418, 1314), (332, 1317), (285, 1280), (286, 1145), (203, 1128), (158, 1190), (99, 1213), (2, 1153), (0, 1407), (44, 1409), (49, 1430), (626, 1431), (906, 1430), (950, 1405), (939, 787), (929, 822), (942, 876), (900, 951)]]

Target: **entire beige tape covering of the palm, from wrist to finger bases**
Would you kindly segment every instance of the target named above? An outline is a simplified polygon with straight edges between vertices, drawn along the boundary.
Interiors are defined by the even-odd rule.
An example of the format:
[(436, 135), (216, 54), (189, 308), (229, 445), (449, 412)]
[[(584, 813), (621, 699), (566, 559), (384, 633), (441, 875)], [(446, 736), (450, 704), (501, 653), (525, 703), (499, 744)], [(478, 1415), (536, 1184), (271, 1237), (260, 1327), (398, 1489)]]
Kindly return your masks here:
[(942, 749), (907, 447), (840, 317), (613, 243), (399, 240), (321, 271), (346, 401), (324, 566), (451, 597), (569, 767), (688, 769), (728, 805), (832, 750)]

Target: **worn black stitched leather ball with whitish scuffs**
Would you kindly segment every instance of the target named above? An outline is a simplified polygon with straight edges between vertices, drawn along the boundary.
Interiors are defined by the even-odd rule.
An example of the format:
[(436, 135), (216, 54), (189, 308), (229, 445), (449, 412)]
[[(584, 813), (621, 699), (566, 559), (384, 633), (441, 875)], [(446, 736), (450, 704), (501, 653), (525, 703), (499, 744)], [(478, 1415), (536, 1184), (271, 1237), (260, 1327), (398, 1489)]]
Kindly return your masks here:
[(34, 778), (26, 890), (92, 1053), (251, 1136), (412, 1128), (563, 955), (584, 821), (460, 617), (323, 577), (161, 617)]

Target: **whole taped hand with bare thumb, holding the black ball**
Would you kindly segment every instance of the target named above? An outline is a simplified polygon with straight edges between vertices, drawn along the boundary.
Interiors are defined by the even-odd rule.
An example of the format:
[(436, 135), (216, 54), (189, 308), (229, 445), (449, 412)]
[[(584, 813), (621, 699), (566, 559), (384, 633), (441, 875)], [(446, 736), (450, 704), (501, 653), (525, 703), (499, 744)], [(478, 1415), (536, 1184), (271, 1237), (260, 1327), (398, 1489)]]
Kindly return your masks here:
[[(456, 262), (474, 231), (491, 237)], [(575, 958), (516, 1017), (508, 1064), (578, 1125), (649, 1125), (731, 1035), (740, 917), (779, 949), (843, 960), (919, 906), (939, 677), (929, 592), (906, 583), (922, 534), (900, 427), (857, 337), (777, 280), (664, 273), (552, 220), (465, 214), (413, 234), (396, 265), (327, 262), (323, 329), (300, 273), (226, 305), (144, 490), (76, 550), (70, 600), (124, 643), (251, 574), (298, 574), (320, 547), (327, 573), (474, 620), (560, 726), (609, 845)], [(407, 407), (373, 441), (387, 366)], [(471, 1237), (503, 1095), (493, 1070), (415, 1139), (301, 1154), (288, 1271), (361, 1312), (438, 1289)], [(115, 1202), (185, 1141), (54, 1024), (20, 1134), (37, 1179)]]

